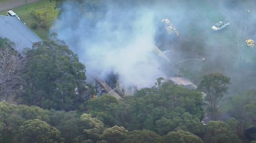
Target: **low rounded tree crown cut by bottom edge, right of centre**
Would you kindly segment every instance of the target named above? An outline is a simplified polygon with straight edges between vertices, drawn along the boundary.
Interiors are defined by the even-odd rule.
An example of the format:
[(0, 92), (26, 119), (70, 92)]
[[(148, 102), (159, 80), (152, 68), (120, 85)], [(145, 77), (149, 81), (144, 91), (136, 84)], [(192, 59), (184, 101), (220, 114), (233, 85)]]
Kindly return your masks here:
[(200, 137), (183, 130), (168, 132), (164, 137), (169, 143), (203, 143)]

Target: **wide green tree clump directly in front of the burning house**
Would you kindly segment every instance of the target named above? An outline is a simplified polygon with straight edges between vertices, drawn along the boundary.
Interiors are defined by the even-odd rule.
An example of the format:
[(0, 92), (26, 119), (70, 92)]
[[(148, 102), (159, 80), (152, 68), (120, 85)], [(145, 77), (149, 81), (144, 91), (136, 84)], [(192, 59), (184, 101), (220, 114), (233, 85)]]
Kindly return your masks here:
[(201, 93), (169, 82), (142, 89), (118, 102), (110, 96), (91, 99), (89, 113), (108, 126), (128, 130), (150, 129), (165, 135), (174, 129), (200, 133), (204, 117)]

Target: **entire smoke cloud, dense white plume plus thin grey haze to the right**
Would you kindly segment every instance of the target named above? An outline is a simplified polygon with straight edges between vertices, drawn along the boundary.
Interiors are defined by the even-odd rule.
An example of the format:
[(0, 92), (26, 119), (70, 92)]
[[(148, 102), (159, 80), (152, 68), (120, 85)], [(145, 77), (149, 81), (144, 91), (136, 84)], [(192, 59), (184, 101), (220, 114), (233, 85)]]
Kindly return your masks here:
[[(100, 2), (100, 8), (86, 2)], [(52, 31), (57, 32), (84, 63), (94, 61), (87, 66), (88, 73), (97, 71), (102, 77), (114, 73), (123, 84), (148, 87), (156, 78), (163, 77), (159, 70), (159, 67), (164, 69), (162, 61), (152, 49), (156, 44), (162, 51), (174, 49), (174, 53), (166, 53), (173, 63), (204, 56), (204, 62), (178, 64), (184, 76), (197, 85), (203, 75), (219, 72), (231, 78), (231, 94), (255, 88), (256, 50), (245, 45), (246, 39), (256, 40), (254, 0), (84, 3), (65, 3)], [(155, 42), (156, 37), (164, 39), (157, 36), (165, 30), (163, 18), (169, 18), (179, 31), (179, 37), (173, 42)], [(212, 25), (225, 18), (231, 21), (228, 27), (211, 31)], [(242, 46), (240, 54), (238, 41)]]

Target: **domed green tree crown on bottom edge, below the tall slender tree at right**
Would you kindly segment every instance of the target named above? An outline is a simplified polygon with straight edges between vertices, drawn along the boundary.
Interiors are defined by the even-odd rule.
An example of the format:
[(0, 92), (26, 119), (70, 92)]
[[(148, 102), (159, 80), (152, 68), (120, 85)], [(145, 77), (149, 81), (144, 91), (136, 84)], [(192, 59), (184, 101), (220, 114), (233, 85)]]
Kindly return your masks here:
[(242, 141), (234, 134), (228, 124), (221, 121), (210, 121), (205, 125), (203, 137), (205, 143), (241, 143)]

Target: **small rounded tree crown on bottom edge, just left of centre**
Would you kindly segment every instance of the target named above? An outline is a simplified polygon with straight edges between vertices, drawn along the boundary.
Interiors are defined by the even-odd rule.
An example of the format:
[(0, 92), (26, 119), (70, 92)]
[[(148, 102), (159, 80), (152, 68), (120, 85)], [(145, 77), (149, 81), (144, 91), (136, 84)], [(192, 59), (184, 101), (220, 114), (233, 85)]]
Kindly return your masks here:
[(118, 143), (126, 137), (127, 133), (128, 130), (125, 130), (124, 127), (114, 126), (104, 130), (99, 138), (105, 140), (108, 143)]

